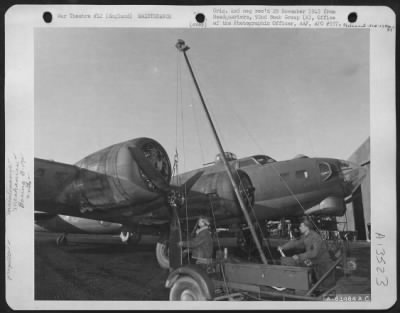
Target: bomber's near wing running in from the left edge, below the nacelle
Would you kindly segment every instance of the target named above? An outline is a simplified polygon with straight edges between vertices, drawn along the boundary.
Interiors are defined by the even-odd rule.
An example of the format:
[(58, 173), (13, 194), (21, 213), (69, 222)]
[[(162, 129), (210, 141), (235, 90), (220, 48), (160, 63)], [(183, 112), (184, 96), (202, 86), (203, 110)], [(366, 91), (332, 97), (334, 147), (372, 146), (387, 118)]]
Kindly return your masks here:
[(141, 192), (138, 199), (118, 197), (115, 190), (121, 187), (113, 182), (128, 184), (126, 179), (76, 165), (35, 158), (34, 176), (35, 211), (47, 214), (128, 224), (131, 216), (145, 216), (165, 207), (164, 197), (156, 193), (151, 193), (149, 200), (140, 199), (147, 192), (140, 187), (135, 187)]

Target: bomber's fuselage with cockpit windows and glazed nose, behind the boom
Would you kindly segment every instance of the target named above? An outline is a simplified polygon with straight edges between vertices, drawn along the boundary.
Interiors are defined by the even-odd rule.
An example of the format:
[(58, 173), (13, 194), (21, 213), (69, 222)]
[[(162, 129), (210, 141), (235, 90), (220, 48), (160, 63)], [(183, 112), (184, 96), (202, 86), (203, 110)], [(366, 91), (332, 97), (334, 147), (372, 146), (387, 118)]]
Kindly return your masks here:
[[(310, 208), (320, 204), (322, 205), (318, 210), (319, 214), (343, 215), (344, 198), (351, 195), (353, 187), (362, 179), (362, 171), (358, 166), (339, 159), (301, 157), (276, 162), (266, 156), (260, 157), (262, 156), (230, 161), (233, 169), (240, 169), (249, 176), (255, 188), (252, 207), (258, 219), (301, 216)], [(262, 164), (263, 162), (264, 164)], [(204, 171), (203, 175), (207, 175), (224, 171), (224, 167), (221, 162), (216, 162), (202, 170)], [(185, 182), (196, 171), (198, 170), (174, 177), (173, 182)], [(199, 180), (192, 187), (191, 192), (201, 192), (204, 189), (205, 186)], [(191, 193), (188, 194), (189, 204), (190, 197)], [(328, 201), (324, 202), (324, 200)], [(327, 207), (327, 202), (330, 210), (325, 212), (322, 209)], [(334, 207), (331, 208), (332, 206)], [(192, 211), (193, 205), (189, 207)], [(214, 213), (219, 216), (219, 219), (241, 215), (238, 209), (235, 212), (224, 210)]]

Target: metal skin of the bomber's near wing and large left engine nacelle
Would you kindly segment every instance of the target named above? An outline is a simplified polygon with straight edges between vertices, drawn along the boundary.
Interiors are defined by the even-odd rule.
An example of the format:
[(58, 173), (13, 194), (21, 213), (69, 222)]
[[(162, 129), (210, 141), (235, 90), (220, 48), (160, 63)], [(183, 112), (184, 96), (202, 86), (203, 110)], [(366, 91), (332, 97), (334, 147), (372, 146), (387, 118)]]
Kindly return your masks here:
[(140, 215), (160, 207), (165, 195), (141, 170), (130, 147), (142, 151), (169, 184), (171, 164), (164, 148), (153, 139), (136, 138), (92, 153), (75, 165), (35, 159), (35, 207), (95, 219), (110, 217), (93, 215), (96, 212), (125, 208)]

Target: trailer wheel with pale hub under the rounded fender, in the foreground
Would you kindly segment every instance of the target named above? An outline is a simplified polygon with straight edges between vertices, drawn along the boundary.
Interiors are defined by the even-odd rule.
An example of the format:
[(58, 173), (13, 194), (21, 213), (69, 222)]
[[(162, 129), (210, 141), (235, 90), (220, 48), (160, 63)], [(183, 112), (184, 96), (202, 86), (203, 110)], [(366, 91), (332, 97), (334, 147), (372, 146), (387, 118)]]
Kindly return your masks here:
[(179, 277), (169, 293), (170, 301), (205, 301), (206, 296), (199, 284), (190, 276)]

